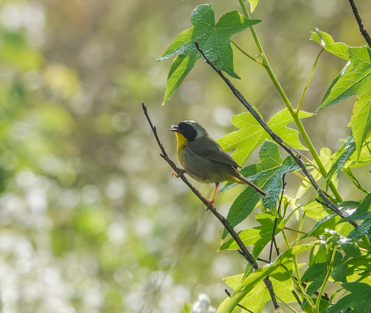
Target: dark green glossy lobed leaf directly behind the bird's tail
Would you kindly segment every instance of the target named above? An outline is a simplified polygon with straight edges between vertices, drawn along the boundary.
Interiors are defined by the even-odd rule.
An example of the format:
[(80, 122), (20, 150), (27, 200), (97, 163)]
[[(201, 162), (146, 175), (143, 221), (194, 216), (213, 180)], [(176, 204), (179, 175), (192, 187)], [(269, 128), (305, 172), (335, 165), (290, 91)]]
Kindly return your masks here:
[[(278, 146), (268, 140), (263, 142), (259, 157), (261, 162), (243, 168), (240, 173), (267, 192), (269, 197), (263, 198), (262, 204), (277, 216), (276, 202), (282, 189), (281, 177), (287, 172), (299, 169), (299, 165), (292, 157), (287, 157), (282, 162)], [(222, 191), (235, 185), (226, 185)], [(232, 227), (241, 223), (252, 212), (260, 197), (260, 194), (252, 188), (246, 188), (236, 198), (227, 215), (227, 220)], [(222, 240), (226, 238), (227, 234), (227, 231), (224, 230)]]

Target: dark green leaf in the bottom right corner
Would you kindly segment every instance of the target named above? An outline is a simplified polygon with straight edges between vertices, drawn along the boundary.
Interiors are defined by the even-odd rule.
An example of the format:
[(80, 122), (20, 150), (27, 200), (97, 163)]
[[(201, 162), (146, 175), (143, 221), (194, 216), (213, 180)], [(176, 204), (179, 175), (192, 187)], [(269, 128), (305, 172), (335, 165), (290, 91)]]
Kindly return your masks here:
[(342, 297), (331, 306), (328, 310), (329, 313), (338, 313), (346, 310), (349, 307), (354, 307), (354, 312), (367, 313), (371, 310), (371, 286), (365, 283), (343, 283), (341, 286), (350, 291), (345, 297)]

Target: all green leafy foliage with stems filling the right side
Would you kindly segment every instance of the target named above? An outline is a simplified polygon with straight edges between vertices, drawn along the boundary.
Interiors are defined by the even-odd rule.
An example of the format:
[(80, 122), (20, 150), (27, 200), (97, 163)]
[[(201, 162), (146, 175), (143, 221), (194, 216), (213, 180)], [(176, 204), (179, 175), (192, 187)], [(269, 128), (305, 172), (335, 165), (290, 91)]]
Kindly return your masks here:
[[(280, 252), (283, 253), (279, 254), (273, 263), (255, 271), (247, 266), (245, 273), (225, 278), (224, 281), (236, 291), (232, 297), (224, 300), (218, 312), (234, 312), (237, 304), (247, 308), (250, 312), (261, 312), (270, 299), (263, 283), (267, 276), (272, 281), (277, 300), (289, 307), (288, 303), (298, 302), (304, 312), (318, 313), (325, 310), (327, 312), (368, 312), (370, 310), (371, 288), (371, 266), (370, 263), (367, 263), (371, 252), (371, 197), (361, 187), (350, 168), (371, 163), (369, 148), (371, 134), (370, 47), (367, 45), (350, 47), (344, 43), (335, 43), (329, 34), (318, 29), (317, 32), (312, 32), (311, 39), (313, 42), (319, 43), (323, 48), (322, 50), (348, 61), (328, 88), (318, 109), (313, 114), (319, 114), (322, 109), (357, 94), (349, 122), (349, 126), (351, 126), (350, 135), (334, 154), (331, 153), (330, 149), (323, 147), (320, 155), (317, 155), (301, 123), (301, 119), (309, 118), (312, 115), (300, 110), (306, 88), (298, 107), (293, 109), (269, 66), (255, 32), (253, 25), (260, 21), (251, 20), (244, 1), (240, 1), (240, 4), (245, 17), (242, 17), (237, 11), (228, 12), (220, 18), (216, 25), (211, 4), (201, 5), (194, 9), (191, 15), (193, 27), (178, 35), (159, 59), (166, 59), (182, 52), (171, 66), (164, 102), (180, 86), (180, 83), (200, 57), (194, 46), (195, 40), (200, 43), (205, 55), (218, 69), (227, 72), (233, 78), (239, 78), (233, 70), (232, 50), (229, 45), (230, 36), (250, 26), (259, 50), (259, 56), (255, 59), (241, 48), (239, 50), (267, 70), (286, 105), (286, 108), (273, 115), (267, 125), (291, 148), (309, 150), (313, 161), (308, 160), (306, 166), (313, 168), (311, 174), (315, 181), (320, 181), (319, 188), (325, 188), (326, 192), (330, 192), (329, 189), (331, 190), (332, 194), (329, 194), (328, 198), (336, 204), (339, 213), (329, 210), (319, 200), (313, 201), (313, 199), (310, 199), (308, 201), (304, 197), (308, 190), (311, 190), (312, 198), (316, 197), (318, 190), (310, 189), (313, 187), (312, 184), (307, 177), (303, 177), (303, 174), (299, 172), (300, 167), (294, 158), (289, 156), (282, 161), (277, 144), (267, 140), (270, 139), (270, 136), (250, 113), (243, 112), (232, 116), (232, 123), (239, 130), (219, 138), (218, 142), (226, 151), (234, 149), (232, 157), (239, 164), (243, 164), (252, 152), (261, 145), (259, 150), (260, 162), (244, 167), (241, 173), (267, 192), (269, 197), (260, 201), (260, 195), (256, 191), (252, 188), (246, 188), (234, 200), (227, 219), (234, 227), (242, 223), (260, 206), (263, 212), (255, 215), (260, 226), (239, 231), (238, 235), (242, 243), (245, 246), (253, 246), (252, 255), (254, 258), (261, 257), (263, 248), (271, 241), (274, 232), (274, 236), (283, 235), (287, 250), (282, 251), (280, 249)], [(250, 4), (250, 9), (253, 11), (257, 1), (250, 1)], [(262, 62), (259, 57), (262, 58)], [(313, 70), (316, 67), (317, 60)], [(312, 73), (306, 87), (308, 87)], [(258, 111), (257, 114), (262, 117)], [(298, 131), (287, 127), (291, 122), (296, 123)], [(299, 141), (299, 133), (306, 146)], [(299, 154), (299, 152), (296, 153)], [(283, 194), (282, 197), (280, 196), (282, 188), (284, 188), (282, 177), (289, 172), (295, 172), (302, 178), (302, 183), (295, 198), (290, 198), (288, 195), (283, 197)], [(337, 190), (341, 172), (345, 172), (357, 188), (368, 195), (364, 199), (351, 198), (348, 201), (343, 201)], [(236, 184), (227, 183), (222, 191), (229, 190), (234, 185)], [(283, 198), (285, 200), (282, 210), (278, 207), (278, 204), (281, 203)], [(288, 201), (288, 199), (291, 200)], [(294, 208), (294, 211), (290, 213), (288, 213), (289, 204)], [(287, 226), (292, 217), (298, 215), (298, 208), (302, 208), (303, 211), (301, 225), (297, 231), (302, 235), (299, 235), (295, 244), (290, 244), (285, 232), (290, 229)], [(314, 219), (316, 223), (312, 230), (303, 232), (302, 226), (308, 218)], [(363, 222), (358, 227), (357, 224), (349, 223), (356, 220), (363, 220)], [(228, 232), (224, 229), (221, 237), (222, 244), (218, 251), (239, 248), (233, 238), (223, 243), (227, 235)], [(299, 241), (309, 238), (313, 240), (311, 243), (298, 244)], [(301, 257), (304, 256), (307, 250), (310, 250), (310, 253), (306, 254), (308, 267), (301, 274), (297, 256), (299, 254), (301, 254)], [(270, 253), (272, 253), (272, 248)], [(294, 272), (296, 279), (293, 276)], [(301, 282), (306, 283), (305, 287)], [(324, 296), (324, 299), (321, 299), (321, 295), (329, 285), (336, 286), (334, 288), (338, 290), (333, 292), (329, 298)]]

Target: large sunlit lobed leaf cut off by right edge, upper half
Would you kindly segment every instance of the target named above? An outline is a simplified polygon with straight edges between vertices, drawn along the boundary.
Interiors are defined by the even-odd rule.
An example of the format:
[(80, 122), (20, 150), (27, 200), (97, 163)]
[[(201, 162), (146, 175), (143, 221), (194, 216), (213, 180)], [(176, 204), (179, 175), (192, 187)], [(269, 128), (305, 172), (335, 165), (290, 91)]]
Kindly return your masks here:
[[(371, 50), (366, 46), (348, 47), (350, 64), (331, 85), (317, 111), (357, 94), (350, 121), (359, 158), (362, 144), (371, 132)], [(316, 112), (317, 112), (316, 111)]]

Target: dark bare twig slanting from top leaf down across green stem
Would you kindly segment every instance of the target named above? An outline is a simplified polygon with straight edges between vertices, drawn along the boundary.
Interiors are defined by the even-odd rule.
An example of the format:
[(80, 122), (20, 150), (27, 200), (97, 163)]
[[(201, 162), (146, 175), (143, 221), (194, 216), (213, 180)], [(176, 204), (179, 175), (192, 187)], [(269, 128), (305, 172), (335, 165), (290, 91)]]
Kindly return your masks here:
[[(204, 52), (201, 50), (200, 46), (198, 45), (198, 42), (195, 41), (194, 44), (196, 45), (197, 50), (201, 53), (203, 56), (205, 62), (209, 64), (215, 72), (219, 74), (219, 76), (224, 80), (224, 82), (228, 85), (230, 90), (232, 90), (233, 94), (236, 96), (237, 99), (244, 105), (244, 107), (249, 111), (252, 116), (256, 119), (256, 121), (263, 127), (263, 129), (268, 133), (268, 135), (277, 143), (279, 144), (299, 165), (299, 167), (304, 172), (305, 176), (308, 177), (309, 182), (314, 187), (316, 192), (321, 196), (321, 198), (325, 201), (326, 206), (329, 207), (332, 211), (334, 211), (336, 214), (340, 215), (342, 218), (345, 218), (345, 215), (339, 210), (339, 208), (332, 203), (324, 194), (324, 192), (319, 188), (319, 185), (316, 183), (313, 176), (308, 172), (308, 169), (306, 168), (305, 164), (299, 158), (297, 155), (294, 154), (294, 152), (283, 143), (283, 140), (272, 131), (272, 129), (269, 128), (269, 126), (260, 118), (259, 114), (253, 109), (253, 107), (250, 105), (249, 102), (246, 101), (246, 99), (243, 97), (243, 95), (232, 85), (230, 80), (226, 78), (226, 76), (223, 75), (220, 69), (218, 69), (211, 61), (207, 58), (207, 56), (204, 54)], [(350, 224), (352, 224), (354, 227), (357, 227), (358, 224), (354, 221), (349, 221)]]

